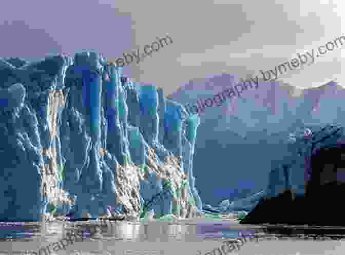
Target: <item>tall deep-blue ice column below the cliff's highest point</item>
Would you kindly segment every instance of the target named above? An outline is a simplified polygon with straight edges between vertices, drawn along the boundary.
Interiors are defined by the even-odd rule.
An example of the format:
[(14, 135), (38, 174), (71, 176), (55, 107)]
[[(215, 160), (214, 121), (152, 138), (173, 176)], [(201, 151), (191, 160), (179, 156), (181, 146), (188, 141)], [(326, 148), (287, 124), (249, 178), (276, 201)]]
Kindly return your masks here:
[[(99, 151), (101, 141), (102, 72), (100, 56), (81, 53), (66, 70), (66, 107), (62, 125), (64, 136), (66, 190), (77, 196), (76, 217), (83, 213), (98, 216), (102, 204), (104, 169)], [(111, 179), (109, 179), (111, 182)], [(111, 185), (110, 185), (111, 186)], [(101, 208), (100, 208), (101, 207)], [(86, 212), (87, 211), (87, 212)]]

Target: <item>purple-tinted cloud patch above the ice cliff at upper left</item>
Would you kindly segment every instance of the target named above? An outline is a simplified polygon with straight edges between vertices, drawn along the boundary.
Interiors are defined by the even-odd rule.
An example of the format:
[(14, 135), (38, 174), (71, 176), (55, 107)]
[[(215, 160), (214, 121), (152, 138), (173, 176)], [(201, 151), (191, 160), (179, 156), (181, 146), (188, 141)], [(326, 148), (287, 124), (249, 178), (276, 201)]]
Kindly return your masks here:
[(114, 1), (7, 1), (0, 8), (0, 56), (96, 50), (119, 57), (130, 49), (131, 26), (130, 14), (121, 13)]

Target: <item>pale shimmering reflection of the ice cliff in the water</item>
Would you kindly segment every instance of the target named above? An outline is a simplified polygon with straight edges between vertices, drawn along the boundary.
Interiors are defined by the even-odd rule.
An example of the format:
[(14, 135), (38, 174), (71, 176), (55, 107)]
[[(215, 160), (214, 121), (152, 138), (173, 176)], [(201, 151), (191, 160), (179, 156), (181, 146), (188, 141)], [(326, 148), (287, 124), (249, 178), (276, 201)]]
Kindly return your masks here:
[[(113, 239), (119, 241), (169, 241), (196, 239), (197, 225), (178, 223), (129, 222), (47, 222), (0, 224), (0, 242), (13, 240), (52, 242), (67, 237), (67, 233), (82, 230), (84, 238)], [(206, 231), (207, 232), (207, 231)]]

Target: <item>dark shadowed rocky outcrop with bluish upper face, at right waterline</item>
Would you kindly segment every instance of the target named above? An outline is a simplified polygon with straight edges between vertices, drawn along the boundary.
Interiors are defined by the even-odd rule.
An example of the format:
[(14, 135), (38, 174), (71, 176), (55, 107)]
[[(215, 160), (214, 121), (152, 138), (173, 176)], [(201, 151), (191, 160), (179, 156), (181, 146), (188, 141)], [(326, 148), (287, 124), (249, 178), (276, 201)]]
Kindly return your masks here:
[(241, 223), (345, 226), (341, 210), (330, 210), (345, 191), (345, 133), (327, 125), (291, 135), (280, 167), (269, 176), (267, 194)]

